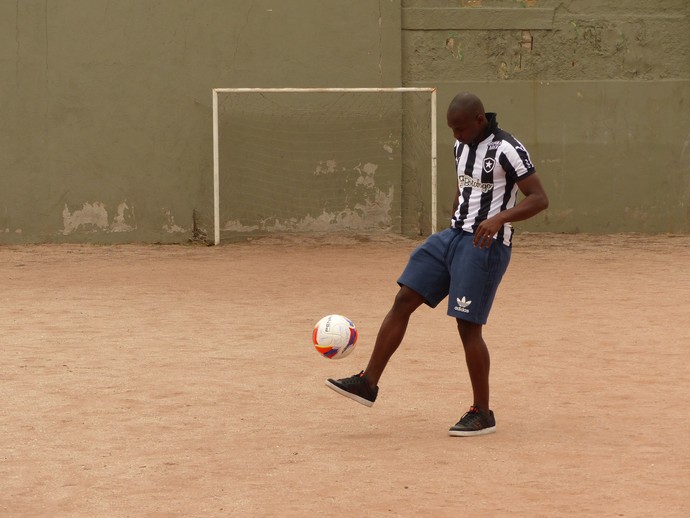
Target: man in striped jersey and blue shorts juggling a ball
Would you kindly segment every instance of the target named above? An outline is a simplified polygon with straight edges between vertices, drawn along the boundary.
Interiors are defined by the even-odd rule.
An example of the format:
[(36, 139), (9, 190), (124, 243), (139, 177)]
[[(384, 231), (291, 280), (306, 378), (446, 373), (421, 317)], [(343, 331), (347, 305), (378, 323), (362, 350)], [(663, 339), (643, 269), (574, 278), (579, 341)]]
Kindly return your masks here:
[[(482, 337), (498, 285), (510, 261), (510, 222), (546, 209), (548, 198), (525, 147), (500, 129), (495, 113), (468, 92), (448, 107), (453, 131), (458, 190), (450, 228), (429, 236), (410, 256), (398, 279), (400, 290), (383, 319), (366, 369), (326, 385), (371, 406), (389, 359), (405, 335), (412, 313), (436, 307), (448, 296), (448, 315), (457, 321), (474, 402), (452, 426), (452, 436), (496, 431), (489, 407), (489, 350)], [(518, 189), (524, 195), (516, 203)]]

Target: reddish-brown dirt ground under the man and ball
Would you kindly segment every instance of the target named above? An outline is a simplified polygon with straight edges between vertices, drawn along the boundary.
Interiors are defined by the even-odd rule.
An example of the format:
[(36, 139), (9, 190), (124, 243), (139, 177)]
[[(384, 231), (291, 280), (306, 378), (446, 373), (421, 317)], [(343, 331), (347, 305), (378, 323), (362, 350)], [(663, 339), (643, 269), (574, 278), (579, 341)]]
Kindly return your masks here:
[[(516, 236), (472, 438), (445, 304), (372, 408), (324, 386), (416, 244), (0, 247), (0, 515), (690, 516), (690, 236)], [(338, 361), (329, 313), (360, 332)]]

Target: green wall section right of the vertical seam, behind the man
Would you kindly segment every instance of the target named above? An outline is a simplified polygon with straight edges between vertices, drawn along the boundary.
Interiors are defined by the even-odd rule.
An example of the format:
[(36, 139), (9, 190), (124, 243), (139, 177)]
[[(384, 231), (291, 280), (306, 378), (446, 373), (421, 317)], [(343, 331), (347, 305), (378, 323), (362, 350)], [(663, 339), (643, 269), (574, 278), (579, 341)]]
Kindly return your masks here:
[(690, 2), (402, 2), (403, 80), (439, 89), (439, 221), (461, 90), (530, 150), (550, 208), (519, 229), (690, 232)]

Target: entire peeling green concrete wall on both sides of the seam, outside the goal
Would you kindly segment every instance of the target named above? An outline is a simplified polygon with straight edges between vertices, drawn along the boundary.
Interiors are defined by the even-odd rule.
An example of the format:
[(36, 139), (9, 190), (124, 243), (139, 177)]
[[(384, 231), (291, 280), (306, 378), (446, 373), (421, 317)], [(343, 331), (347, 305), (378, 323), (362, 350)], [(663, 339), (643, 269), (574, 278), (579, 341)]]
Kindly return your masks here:
[[(472, 90), (551, 196), (519, 228), (688, 233), (689, 8), (0, 0), (0, 244), (212, 234), (211, 89), (246, 86), (437, 87), (441, 225), (454, 191), (445, 107)], [(401, 227), (423, 234), (428, 207), (404, 196), (426, 179), (402, 180)]]

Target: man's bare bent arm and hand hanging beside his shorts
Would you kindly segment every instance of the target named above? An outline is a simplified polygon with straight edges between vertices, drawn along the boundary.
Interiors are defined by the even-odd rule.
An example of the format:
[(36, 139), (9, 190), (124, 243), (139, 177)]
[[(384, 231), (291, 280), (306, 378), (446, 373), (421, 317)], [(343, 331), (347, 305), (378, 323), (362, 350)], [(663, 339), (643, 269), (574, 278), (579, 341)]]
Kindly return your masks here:
[(487, 248), (491, 245), (491, 239), (501, 227), (513, 221), (523, 221), (540, 213), (549, 206), (549, 198), (546, 196), (544, 186), (537, 173), (529, 175), (517, 183), (520, 192), (525, 195), (512, 209), (499, 212), (494, 217), (482, 221), (474, 233), (474, 246)]

